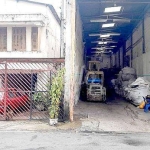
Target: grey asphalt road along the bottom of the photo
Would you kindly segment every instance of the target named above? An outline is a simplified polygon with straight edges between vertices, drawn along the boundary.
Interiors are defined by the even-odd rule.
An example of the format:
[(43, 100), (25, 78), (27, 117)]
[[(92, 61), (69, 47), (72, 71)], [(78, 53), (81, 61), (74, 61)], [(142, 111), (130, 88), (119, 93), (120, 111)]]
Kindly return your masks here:
[(148, 150), (148, 133), (1, 131), (0, 150)]

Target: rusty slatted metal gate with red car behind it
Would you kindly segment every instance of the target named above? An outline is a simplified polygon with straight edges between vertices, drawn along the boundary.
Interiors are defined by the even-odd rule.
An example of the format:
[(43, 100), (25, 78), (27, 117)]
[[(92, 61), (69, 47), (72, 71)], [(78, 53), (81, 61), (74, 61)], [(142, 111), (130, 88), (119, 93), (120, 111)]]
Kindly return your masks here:
[(63, 59), (0, 59), (0, 120), (47, 119), (51, 80), (63, 66)]

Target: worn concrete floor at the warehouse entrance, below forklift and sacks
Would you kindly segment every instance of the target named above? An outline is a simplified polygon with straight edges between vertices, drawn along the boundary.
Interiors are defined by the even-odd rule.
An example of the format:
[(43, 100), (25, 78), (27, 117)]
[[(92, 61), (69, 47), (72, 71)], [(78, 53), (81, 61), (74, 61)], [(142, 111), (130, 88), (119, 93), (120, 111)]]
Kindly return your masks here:
[(150, 113), (119, 98), (107, 104), (80, 101), (75, 116), (82, 131), (150, 132)]

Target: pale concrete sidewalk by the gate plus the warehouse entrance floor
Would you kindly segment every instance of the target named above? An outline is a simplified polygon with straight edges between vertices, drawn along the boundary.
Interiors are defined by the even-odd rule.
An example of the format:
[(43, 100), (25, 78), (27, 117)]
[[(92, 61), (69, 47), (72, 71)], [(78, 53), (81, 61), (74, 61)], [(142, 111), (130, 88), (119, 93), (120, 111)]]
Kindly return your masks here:
[(48, 120), (0, 121), (0, 131), (90, 131), (90, 132), (150, 132), (150, 113), (126, 101), (108, 104), (79, 102), (75, 107), (74, 122), (60, 122), (50, 126)]

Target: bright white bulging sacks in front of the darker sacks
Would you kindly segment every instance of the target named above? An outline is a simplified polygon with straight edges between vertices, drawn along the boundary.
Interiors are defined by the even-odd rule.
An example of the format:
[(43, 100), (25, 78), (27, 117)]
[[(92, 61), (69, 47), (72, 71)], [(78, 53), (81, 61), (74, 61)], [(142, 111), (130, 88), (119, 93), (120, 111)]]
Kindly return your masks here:
[(139, 77), (125, 89), (125, 93), (125, 97), (128, 100), (132, 101), (134, 105), (139, 106), (144, 101), (143, 97), (150, 95), (150, 82)]

